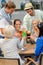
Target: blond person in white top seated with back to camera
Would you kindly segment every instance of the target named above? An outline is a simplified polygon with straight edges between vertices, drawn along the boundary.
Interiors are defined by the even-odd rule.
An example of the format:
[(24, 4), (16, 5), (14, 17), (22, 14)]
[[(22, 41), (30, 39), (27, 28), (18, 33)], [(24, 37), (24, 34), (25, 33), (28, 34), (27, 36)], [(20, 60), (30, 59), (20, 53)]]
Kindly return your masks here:
[(0, 47), (4, 54), (4, 58), (19, 58), (21, 65), (24, 64), (23, 60), (19, 56), (18, 46), (19, 39), (14, 37), (14, 27), (12, 25), (7, 25), (2, 33), (5, 35), (4, 39), (0, 39)]

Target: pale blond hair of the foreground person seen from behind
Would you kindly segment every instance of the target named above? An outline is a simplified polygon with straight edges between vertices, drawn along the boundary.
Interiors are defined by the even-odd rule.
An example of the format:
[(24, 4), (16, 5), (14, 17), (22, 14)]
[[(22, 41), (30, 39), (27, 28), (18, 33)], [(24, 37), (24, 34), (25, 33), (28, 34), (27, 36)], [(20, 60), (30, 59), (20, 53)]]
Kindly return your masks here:
[(14, 35), (15, 29), (12, 25), (7, 25), (4, 29), (3, 29), (3, 34), (5, 35), (5, 37), (9, 37), (12, 38)]

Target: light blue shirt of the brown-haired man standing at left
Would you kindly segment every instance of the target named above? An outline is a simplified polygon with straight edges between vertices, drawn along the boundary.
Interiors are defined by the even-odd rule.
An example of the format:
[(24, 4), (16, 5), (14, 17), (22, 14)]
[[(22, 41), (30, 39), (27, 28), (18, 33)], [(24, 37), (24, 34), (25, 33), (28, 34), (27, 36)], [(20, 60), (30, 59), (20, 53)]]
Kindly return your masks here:
[(8, 21), (8, 23), (11, 24), (11, 14), (8, 14), (5, 11), (5, 8), (4, 7), (0, 10), (0, 20), (2, 18), (6, 19)]

